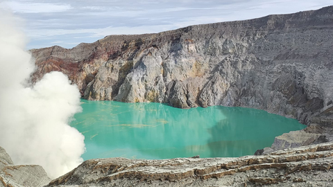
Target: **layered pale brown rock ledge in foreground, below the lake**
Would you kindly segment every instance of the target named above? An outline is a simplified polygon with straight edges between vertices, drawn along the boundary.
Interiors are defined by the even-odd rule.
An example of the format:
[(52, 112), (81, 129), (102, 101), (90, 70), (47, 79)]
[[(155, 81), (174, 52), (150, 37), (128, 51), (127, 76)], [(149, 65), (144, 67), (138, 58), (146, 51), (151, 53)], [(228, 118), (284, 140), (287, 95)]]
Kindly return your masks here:
[(92, 159), (49, 186), (332, 186), (333, 144), (264, 156), (212, 159)]

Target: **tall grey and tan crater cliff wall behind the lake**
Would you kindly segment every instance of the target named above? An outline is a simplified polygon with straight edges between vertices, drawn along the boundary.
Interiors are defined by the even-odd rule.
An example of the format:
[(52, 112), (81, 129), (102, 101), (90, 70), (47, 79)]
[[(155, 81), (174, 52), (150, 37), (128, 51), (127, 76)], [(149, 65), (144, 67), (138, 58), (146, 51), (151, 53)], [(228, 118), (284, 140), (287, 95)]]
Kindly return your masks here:
[(332, 124), (333, 6), (33, 49), (37, 80), (62, 71), (89, 100), (241, 106)]

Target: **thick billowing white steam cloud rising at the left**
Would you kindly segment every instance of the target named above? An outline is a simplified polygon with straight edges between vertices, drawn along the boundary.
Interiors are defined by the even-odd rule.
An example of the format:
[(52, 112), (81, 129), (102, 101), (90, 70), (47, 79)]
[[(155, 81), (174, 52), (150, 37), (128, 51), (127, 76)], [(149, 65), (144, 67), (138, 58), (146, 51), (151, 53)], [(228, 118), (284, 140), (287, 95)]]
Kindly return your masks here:
[(15, 164), (40, 165), (56, 178), (83, 161), (84, 136), (68, 125), (80, 93), (60, 72), (28, 86), (34, 63), (14, 23), (0, 9), (0, 146)]

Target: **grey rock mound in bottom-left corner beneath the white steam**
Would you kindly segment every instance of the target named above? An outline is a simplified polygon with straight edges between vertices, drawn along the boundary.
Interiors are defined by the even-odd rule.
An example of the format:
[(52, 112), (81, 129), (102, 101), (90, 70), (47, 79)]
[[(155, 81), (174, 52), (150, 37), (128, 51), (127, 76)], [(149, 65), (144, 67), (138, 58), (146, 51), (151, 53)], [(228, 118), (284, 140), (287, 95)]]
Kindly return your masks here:
[(15, 166), (6, 150), (0, 147), (0, 187), (39, 187), (50, 181), (42, 166)]

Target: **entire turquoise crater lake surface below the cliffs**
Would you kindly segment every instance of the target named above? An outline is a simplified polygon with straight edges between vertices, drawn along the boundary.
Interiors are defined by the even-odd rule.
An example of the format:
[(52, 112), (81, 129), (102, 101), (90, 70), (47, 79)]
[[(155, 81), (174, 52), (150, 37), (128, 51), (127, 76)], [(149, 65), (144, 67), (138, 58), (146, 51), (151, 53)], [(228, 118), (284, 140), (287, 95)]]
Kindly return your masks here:
[(271, 146), (298, 121), (241, 107), (178, 109), (160, 103), (81, 100), (71, 126), (85, 136), (83, 159), (240, 157)]

